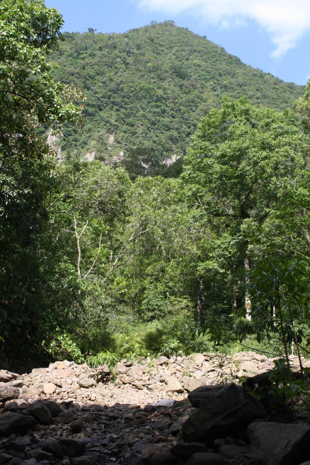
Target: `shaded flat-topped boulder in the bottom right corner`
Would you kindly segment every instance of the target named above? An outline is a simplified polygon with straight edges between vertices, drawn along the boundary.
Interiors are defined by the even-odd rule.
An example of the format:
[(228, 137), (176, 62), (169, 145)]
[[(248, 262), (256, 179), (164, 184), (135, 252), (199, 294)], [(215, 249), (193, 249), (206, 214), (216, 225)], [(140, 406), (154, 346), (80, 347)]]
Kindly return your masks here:
[(309, 458), (308, 424), (252, 423), (247, 432), (254, 465), (299, 465)]

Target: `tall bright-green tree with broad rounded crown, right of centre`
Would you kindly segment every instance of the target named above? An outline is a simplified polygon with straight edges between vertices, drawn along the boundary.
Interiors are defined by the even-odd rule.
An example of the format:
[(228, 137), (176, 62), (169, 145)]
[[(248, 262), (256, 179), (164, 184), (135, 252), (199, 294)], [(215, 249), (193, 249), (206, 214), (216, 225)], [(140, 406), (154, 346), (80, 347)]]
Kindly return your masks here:
[[(264, 221), (285, 180), (300, 176), (307, 147), (292, 112), (256, 108), (246, 98), (224, 98), (222, 108), (211, 110), (198, 125), (182, 179), (191, 207), (210, 218), (219, 238), (229, 234), (229, 247), (236, 244), (227, 266), (237, 280), (242, 269), (251, 267), (245, 230)], [(247, 292), (243, 306), (251, 319)]]

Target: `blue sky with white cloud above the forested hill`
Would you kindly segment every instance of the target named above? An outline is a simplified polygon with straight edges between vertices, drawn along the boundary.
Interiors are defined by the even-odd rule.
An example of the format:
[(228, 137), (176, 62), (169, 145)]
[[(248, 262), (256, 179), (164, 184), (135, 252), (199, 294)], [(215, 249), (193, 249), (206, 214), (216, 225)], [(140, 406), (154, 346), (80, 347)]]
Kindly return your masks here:
[(310, 78), (310, 0), (46, 0), (63, 31), (124, 32), (174, 20), (285, 81)]

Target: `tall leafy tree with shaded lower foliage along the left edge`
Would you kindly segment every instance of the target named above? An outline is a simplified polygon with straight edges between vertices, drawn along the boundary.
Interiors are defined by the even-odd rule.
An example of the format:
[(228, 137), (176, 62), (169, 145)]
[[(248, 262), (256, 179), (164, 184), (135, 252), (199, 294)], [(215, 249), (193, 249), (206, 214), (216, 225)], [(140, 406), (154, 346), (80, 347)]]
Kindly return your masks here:
[(44, 319), (34, 296), (40, 294), (40, 272), (47, 269), (40, 233), (56, 189), (56, 160), (40, 126), (59, 132), (66, 122), (81, 121), (82, 93), (49, 76), (53, 65), (46, 56), (57, 48), (62, 24), (60, 13), (43, 0), (1, 2), (0, 332), (5, 337), (20, 330), (27, 339), (29, 326)]

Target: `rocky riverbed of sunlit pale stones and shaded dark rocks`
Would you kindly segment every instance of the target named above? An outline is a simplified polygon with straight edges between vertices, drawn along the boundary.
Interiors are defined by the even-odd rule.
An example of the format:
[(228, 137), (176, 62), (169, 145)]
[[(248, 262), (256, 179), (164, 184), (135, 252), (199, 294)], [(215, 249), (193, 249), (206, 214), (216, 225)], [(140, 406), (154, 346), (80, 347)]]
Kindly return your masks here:
[(273, 367), (239, 352), (122, 360), (113, 380), (107, 367), (100, 378), (68, 361), (1, 370), (0, 465), (300, 465), (310, 460), (307, 412), (297, 423), (285, 406), (270, 417), (239, 385)]

